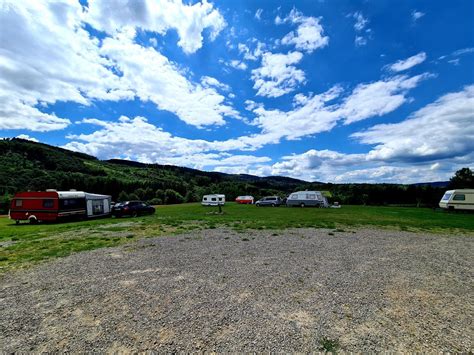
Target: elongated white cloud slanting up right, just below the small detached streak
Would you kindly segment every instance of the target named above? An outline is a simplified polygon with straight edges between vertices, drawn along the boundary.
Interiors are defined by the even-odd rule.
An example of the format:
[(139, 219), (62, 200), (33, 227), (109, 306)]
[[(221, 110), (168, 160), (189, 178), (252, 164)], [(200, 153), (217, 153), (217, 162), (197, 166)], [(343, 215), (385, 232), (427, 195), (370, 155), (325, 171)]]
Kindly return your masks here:
[(413, 77), (401, 75), (370, 84), (359, 84), (344, 100), (339, 114), (345, 117), (345, 124), (385, 115), (405, 103), (408, 91), (429, 77), (431, 75), (428, 73)]

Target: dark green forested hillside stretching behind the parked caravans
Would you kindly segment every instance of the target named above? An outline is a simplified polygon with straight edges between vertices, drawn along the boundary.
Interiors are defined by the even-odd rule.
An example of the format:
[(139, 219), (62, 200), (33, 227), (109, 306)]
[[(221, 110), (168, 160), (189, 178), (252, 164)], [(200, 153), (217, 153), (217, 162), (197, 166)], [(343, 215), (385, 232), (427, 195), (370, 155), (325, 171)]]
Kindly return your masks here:
[[(282, 197), (296, 190), (324, 190), (343, 204), (434, 206), (445, 188), (431, 185), (324, 184), (287, 177), (204, 172), (95, 157), (22, 139), (0, 140), (0, 196), (26, 190), (84, 190), (113, 200), (142, 199), (153, 204), (199, 201), (206, 193)], [(5, 207), (5, 206), (4, 206)]]

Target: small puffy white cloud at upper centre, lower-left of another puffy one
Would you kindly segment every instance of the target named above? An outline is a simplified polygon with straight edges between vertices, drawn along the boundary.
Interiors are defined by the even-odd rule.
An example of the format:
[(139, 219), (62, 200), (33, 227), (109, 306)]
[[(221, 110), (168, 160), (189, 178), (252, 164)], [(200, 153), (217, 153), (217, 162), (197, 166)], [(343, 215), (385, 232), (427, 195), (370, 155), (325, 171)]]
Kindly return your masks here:
[(304, 83), (304, 72), (293, 65), (302, 58), (300, 52), (288, 54), (265, 52), (262, 55), (261, 67), (252, 70), (253, 88), (257, 90), (257, 95), (279, 97)]

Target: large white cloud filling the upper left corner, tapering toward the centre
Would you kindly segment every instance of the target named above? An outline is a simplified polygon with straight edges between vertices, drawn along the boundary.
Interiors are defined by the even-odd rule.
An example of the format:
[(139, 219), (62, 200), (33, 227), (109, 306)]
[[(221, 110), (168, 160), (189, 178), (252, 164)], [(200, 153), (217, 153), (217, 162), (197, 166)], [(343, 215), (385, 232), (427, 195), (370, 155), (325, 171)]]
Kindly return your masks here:
[[(91, 2), (89, 11), (98, 4)], [(201, 10), (204, 6), (196, 5)], [(224, 124), (224, 116), (238, 117), (215, 87), (193, 83), (157, 50), (137, 44), (133, 28), (99, 41), (83, 28), (87, 16), (92, 15), (84, 14), (74, 1), (4, 3), (0, 10), (1, 128), (63, 129), (69, 120), (42, 112), (44, 107), (60, 101), (90, 105), (95, 100), (135, 97), (197, 127)], [(104, 21), (109, 21), (107, 26), (115, 23), (112, 17)]]

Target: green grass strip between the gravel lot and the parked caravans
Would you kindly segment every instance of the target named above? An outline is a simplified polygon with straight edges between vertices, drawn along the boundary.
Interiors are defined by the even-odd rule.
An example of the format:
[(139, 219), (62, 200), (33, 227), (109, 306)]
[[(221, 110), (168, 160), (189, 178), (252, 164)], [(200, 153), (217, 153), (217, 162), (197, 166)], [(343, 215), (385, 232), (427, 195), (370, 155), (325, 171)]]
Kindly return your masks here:
[(216, 212), (215, 207), (202, 207), (193, 203), (158, 206), (155, 215), (138, 218), (38, 225), (15, 225), (8, 218), (0, 218), (0, 273), (50, 258), (117, 246), (140, 238), (217, 227), (242, 232), (249, 229), (282, 230), (301, 227), (330, 228), (335, 231), (378, 227), (474, 235), (474, 214), (446, 213), (425, 208), (257, 208), (228, 203), (223, 208), (223, 214)]

